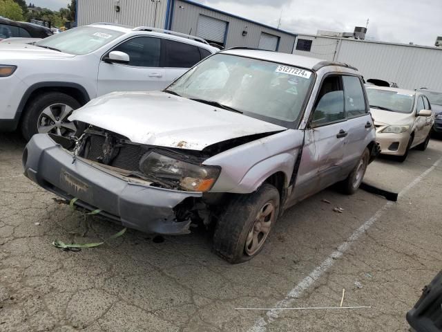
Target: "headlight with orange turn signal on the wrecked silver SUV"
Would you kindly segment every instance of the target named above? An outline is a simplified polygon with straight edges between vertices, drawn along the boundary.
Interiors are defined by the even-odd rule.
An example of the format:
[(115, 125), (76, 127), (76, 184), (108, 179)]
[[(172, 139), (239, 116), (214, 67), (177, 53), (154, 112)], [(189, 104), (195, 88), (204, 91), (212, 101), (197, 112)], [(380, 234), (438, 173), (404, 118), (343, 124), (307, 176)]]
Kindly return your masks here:
[(152, 151), (140, 160), (140, 170), (151, 178), (177, 185), (182, 190), (207, 192), (220, 175), (220, 167), (204, 166)]

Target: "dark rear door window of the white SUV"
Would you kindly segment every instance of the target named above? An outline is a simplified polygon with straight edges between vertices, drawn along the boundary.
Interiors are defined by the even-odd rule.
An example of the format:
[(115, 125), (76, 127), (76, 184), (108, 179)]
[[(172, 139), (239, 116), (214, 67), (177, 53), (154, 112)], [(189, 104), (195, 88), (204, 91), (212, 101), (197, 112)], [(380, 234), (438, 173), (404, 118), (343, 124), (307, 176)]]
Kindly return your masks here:
[(163, 67), (191, 68), (201, 60), (197, 46), (163, 39)]

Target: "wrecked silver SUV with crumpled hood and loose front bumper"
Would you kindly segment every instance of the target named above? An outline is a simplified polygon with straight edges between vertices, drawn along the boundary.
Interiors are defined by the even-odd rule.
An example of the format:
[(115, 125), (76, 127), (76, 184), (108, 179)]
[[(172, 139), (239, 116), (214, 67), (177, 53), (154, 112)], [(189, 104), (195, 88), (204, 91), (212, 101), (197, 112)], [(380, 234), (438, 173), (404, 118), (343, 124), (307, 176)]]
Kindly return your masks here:
[(75, 140), (28, 142), (28, 178), (143, 232), (215, 225), (231, 263), (257, 255), (296, 202), (338, 182), (354, 193), (376, 154), (354, 68), (263, 50), (224, 50), (164, 91), (110, 93), (69, 120), (84, 128)]

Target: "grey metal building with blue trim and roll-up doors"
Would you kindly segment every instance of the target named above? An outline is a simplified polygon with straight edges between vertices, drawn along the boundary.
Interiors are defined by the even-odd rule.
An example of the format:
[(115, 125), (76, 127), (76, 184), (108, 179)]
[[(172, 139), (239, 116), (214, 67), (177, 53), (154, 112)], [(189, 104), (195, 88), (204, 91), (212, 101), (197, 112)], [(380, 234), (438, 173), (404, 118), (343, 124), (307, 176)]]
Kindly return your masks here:
[(291, 53), (296, 34), (189, 0), (77, 0), (77, 26), (111, 22), (195, 35), (226, 48)]

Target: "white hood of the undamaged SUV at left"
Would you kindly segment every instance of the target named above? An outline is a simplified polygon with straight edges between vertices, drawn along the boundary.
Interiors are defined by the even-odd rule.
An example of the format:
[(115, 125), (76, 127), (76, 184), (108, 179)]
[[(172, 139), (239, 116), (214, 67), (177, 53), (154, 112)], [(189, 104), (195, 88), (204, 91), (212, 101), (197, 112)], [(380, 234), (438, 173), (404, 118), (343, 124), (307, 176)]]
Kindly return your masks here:
[(21, 59), (67, 59), (69, 57), (75, 57), (75, 55), (30, 44), (0, 43), (0, 62), (1, 60), (9, 60), (8, 64), (13, 64), (13, 60)]

